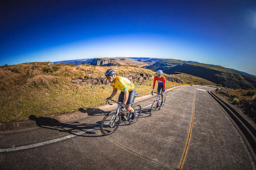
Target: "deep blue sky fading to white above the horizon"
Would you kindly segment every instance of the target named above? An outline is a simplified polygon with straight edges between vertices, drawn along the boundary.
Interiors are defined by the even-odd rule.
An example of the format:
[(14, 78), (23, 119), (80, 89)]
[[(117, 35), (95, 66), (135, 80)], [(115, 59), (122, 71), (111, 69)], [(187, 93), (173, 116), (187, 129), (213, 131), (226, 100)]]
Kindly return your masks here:
[(0, 66), (95, 57), (159, 57), (256, 75), (256, 1), (8, 0)]

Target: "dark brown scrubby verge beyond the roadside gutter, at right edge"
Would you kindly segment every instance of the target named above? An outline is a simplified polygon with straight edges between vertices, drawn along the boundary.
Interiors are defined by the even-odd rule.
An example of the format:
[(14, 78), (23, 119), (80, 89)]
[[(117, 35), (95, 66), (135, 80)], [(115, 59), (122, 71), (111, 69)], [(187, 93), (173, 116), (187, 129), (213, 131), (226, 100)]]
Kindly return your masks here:
[(256, 123), (256, 90), (215, 90), (216, 94), (226, 99)]

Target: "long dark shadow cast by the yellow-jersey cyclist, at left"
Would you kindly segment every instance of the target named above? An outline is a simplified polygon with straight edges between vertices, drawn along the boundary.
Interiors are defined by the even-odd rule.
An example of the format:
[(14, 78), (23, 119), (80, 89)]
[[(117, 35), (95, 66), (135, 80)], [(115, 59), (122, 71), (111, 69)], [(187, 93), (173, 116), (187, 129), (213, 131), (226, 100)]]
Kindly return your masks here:
[(39, 127), (43, 127), (46, 129), (56, 130), (58, 132), (66, 132), (76, 136), (83, 137), (100, 137), (103, 135), (97, 135), (94, 129), (99, 129), (100, 122), (95, 124), (90, 123), (61, 123), (59, 120), (55, 118), (48, 117), (39, 117), (37, 118), (35, 115), (29, 116), (30, 120), (36, 121), (36, 125)]

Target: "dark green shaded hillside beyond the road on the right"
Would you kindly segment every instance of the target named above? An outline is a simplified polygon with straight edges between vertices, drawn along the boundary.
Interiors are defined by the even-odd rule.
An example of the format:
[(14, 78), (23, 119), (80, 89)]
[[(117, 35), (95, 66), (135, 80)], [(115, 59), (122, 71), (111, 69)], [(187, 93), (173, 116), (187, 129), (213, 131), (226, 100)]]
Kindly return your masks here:
[(222, 66), (210, 64), (181, 64), (169, 67), (163, 71), (167, 74), (173, 74), (174, 72), (190, 74), (232, 89), (256, 88), (255, 77), (247, 76)]

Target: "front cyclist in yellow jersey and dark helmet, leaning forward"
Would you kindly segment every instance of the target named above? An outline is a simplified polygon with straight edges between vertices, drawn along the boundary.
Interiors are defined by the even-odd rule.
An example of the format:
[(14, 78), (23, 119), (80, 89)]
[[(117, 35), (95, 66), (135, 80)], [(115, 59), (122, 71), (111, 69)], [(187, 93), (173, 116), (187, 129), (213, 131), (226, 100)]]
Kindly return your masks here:
[(131, 107), (135, 94), (134, 84), (125, 77), (116, 76), (116, 71), (114, 69), (107, 70), (105, 76), (109, 80), (110, 85), (113, 87), (113, 92), (110, 97), (106, 99), (106, 101), (109, 102), (109, 99), (112, 99), (116, 95), (117, 90), (121, 90), (121, 93), (118, 97), (118, 102), (123, 102), (121, 107), (126, 108), (126, 110), (132, 112), (132, 119), (134, 119), (135, 116), (138, 115), (136, 111), (134, 111)]

